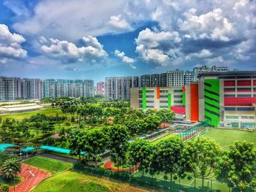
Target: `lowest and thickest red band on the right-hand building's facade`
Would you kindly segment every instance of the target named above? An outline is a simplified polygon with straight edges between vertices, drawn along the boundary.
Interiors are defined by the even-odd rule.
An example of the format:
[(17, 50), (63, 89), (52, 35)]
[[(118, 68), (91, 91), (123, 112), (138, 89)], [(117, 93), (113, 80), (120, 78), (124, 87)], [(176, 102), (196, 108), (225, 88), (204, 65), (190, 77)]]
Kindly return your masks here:
[(226, 97), (224, 99), (225, 105), (238, 105), (238, 106), (249, 106), (256, 103), (255, 97)]

